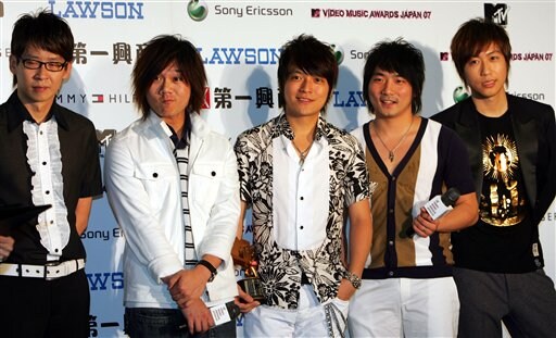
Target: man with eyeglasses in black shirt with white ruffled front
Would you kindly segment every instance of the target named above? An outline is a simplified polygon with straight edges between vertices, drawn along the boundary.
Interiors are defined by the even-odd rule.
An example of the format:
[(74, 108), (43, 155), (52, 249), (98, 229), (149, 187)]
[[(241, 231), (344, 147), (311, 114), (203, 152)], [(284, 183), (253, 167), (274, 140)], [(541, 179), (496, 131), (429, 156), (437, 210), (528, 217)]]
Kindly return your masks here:
[[(14, 92), (0, 105), (0, 208), (51, 208), (0, 228), (2, 337), (88, 337), (85, 231), (102, 193), (92, 123), (55, 102), (72, 71), (67, 23), (46, 11), (21, 16), (12, 33)], [(8, 240), (7, 240), (8, 239)]]

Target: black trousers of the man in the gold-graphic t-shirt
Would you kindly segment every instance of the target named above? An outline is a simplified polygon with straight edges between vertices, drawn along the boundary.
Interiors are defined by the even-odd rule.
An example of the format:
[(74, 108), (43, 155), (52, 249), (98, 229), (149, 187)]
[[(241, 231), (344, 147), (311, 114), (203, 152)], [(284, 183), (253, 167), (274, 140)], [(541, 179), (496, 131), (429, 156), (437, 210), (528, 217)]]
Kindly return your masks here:
[(554, 337), (556, 291), (544, 271), (496, 274), (454, 268), (459, 296), (459, 338)]

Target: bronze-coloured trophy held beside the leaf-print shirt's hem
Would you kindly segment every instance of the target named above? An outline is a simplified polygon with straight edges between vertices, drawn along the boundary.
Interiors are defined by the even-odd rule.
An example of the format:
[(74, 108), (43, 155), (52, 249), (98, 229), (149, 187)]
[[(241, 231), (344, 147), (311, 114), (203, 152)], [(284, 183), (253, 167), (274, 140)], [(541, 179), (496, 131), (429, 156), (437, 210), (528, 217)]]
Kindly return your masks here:
[(231, 249), (233, 264), (241, 265), (245, 278), (238, 281), (238, 285), (261, 304), (266, 303), (264, 287), (256, 271), (258, 263), (255, 258), (255, 250), (251, 243), (244, 239), (236, 238)]

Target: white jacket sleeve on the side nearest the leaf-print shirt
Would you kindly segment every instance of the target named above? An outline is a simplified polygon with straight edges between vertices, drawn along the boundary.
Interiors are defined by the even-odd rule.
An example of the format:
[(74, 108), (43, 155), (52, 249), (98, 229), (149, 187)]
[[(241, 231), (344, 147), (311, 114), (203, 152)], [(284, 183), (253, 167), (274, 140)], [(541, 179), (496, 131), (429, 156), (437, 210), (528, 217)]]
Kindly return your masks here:
[(229, 143), (226, 148), (224, 178), (219, 184), (217, 198), (211, 209), (205, 236), (199, 247), (201, 256), (212, 254), (223, 260), (222, 270), (226, 268), (227, 264), (233, 264), (230, 260), (230, 252), (236, 238), (240, 213), (236, 154)]

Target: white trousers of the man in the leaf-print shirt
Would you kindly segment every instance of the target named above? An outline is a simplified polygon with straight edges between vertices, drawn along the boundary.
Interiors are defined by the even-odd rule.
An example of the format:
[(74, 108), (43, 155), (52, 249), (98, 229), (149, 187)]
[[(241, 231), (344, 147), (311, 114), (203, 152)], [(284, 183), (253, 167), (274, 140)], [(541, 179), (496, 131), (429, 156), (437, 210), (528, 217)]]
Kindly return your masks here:
[[(338, 298), (330, 301), (344, 317), (348, 316), (349, 301)], [(327, 302), (328, 303), (328, 302)], [(326, 304), (317, 300), (313, 287), (303, 285), (300, 289), (298, 310), (285, 310), (275, 306), (260, 305), (245, 314), (244, 337), (329, 337)], [(345, 324), (339, 320), (341, 327), (334, 327), (334, 337), (345, 333)], [(340, 333), (341, 331), (341, 333)], [(341, 335), (340, 335), (341, 334)]]

